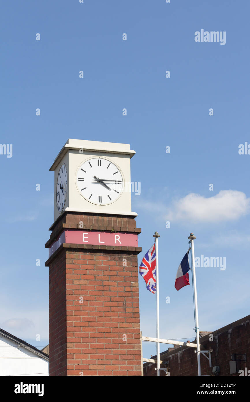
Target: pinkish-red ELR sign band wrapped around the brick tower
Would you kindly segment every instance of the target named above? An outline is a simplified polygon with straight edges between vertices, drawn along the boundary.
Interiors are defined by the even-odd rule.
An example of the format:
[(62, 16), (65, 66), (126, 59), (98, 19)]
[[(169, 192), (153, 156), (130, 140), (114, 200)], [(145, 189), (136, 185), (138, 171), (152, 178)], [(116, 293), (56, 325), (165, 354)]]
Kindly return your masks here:
[(138, 238), (137, 233), (65, 230), (58, 240), (49, 248), (49, 257), (63, 243), (138, 247)]

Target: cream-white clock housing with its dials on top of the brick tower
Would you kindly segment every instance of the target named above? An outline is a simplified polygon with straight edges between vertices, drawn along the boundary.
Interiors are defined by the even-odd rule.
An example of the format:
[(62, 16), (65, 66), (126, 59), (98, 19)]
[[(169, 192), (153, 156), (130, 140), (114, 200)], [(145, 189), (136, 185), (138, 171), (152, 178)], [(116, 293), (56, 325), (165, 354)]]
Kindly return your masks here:
[[(55, 172), (55, 220), (64, 211), (136, 216), (130, 193), (134, 154), (129, 144), (68, 139), (50, 168)], [(67, 196), (59, 210), (57, 178), (62, 165), (67, 172)]]

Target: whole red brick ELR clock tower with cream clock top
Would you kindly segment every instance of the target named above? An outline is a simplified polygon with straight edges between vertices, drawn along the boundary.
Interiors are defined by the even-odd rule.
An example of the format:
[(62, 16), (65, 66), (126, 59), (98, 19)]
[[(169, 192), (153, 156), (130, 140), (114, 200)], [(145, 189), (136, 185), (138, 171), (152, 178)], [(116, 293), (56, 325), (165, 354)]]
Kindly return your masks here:
[(55, 172), (50, 375), (142, 375), (129, 144), (69, 139)]

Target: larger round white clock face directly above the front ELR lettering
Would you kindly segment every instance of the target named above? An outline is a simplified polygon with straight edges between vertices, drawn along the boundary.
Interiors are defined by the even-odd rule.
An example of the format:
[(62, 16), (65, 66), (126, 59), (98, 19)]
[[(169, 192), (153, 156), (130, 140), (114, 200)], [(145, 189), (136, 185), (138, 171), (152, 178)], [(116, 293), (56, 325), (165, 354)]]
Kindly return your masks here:
[(97, 205), (112, 204), (124, 185), (120, 168), (106, 158), (85, 160), (77, 169), (75, 183), (81, 196)]

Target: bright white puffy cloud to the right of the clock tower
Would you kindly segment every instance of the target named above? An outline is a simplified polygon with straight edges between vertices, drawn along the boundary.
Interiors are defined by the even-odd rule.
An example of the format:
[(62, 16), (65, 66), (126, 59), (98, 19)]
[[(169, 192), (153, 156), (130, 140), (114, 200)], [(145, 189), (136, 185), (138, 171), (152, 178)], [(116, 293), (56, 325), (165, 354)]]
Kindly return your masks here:
[(222, 222), (249, 213), (250, 199), (242, 191), (222, 190), (213, 197), (205, 198), (190, 193), (174, 201), (167, 211), (167, 218), (172, 220), (192, 219), (193, 222)]

